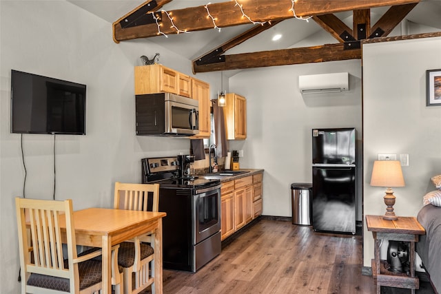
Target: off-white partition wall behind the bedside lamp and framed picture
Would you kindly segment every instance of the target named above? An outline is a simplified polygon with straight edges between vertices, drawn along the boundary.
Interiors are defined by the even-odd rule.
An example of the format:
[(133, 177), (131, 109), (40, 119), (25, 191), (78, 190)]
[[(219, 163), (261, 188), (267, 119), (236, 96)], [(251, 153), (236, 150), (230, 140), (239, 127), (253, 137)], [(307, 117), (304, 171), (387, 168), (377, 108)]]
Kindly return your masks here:
[[(441, 68), (441, 38), (363, 45), (364, 210), (383, 215), (384, 188), (370, 187), (379, 153), (409, 154), (406, 187), (393, 188), (398, 216), (417, 216), (422, 197), (441, 174), (441, 107), (426, 106), (426, 70)], [(364, 263), (371, 266), (373, 238), (365, 228)]]

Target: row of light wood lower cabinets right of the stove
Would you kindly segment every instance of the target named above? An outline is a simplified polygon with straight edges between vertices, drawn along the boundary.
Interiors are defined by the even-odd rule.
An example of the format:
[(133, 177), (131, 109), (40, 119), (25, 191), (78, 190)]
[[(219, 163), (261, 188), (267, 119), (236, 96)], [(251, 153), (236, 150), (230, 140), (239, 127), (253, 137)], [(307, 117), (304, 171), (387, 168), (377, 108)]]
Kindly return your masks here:
[(232, 235), (262, 213), (262, 176), (223, 182), (220, 188), (221, 239)]

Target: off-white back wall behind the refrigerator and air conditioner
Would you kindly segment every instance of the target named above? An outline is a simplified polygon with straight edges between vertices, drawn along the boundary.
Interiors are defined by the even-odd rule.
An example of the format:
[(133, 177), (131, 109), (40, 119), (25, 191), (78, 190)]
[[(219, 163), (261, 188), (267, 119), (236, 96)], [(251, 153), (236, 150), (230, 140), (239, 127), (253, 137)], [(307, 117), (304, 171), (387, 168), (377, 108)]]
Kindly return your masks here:
[[(300, 94), (298, 76), (330, 72), (349, 72), (349, 92)], [(291, 216), (291, 183), (311, 182), (311, 129), (356, 127), (362, 136), (360, 60), (246, 70), (229, 90), (247, 98), (247, 140), (230, 149), (243, 149), (240, 167), (265, 169), (264, 215)]]

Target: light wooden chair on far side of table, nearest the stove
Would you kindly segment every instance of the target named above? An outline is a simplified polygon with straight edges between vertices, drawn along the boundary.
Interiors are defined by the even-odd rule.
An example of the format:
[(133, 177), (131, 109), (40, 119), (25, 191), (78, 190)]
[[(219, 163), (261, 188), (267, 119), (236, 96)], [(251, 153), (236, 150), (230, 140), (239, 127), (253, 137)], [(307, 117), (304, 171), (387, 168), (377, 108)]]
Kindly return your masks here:
[[(158, 211), (159, 184), (115, 183), (114, 209)], [(154, 234), (140, 235), (120, 244), (124, 292), (139, 293), (148, 286), (154, 293)], [(133, 281), (134, 276), (134, 281)]]

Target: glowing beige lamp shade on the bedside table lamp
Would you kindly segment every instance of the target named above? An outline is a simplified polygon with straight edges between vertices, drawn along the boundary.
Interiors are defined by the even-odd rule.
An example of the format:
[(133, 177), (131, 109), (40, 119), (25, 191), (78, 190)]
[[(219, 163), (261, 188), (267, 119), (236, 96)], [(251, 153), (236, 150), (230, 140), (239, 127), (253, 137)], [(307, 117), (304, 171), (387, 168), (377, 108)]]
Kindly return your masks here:
[(373, 162), (371, 186), (404, 187), (399, 160), (376, 160)]

